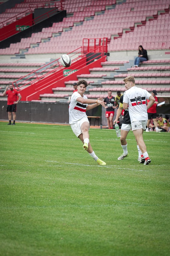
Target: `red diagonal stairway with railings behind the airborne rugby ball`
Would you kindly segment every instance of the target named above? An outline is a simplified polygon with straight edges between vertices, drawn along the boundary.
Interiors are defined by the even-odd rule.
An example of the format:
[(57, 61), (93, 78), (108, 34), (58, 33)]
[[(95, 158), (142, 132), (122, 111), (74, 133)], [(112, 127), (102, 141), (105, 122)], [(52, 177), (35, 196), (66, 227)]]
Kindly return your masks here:
[[(96, 59), (100, 59), (105, 55), (106, 45), (103, 44), (103, 42), (106, 42), (105, 38), (100, 40), (91, 40), (92, 43), (93, 41), (101, 42), (101, 45), (99, 45), (96, 48), (93, 48), (86, 54), (83, 54), (83, 47), (79, 47), (76, 50), (68, 53), (68, 55), (71, 56), (72, 60), (71, 67), (63, 67), (60, 63), (60, 58), (58, 58), (55, 61), (46, 64), (44, 67), (41, 67), (29, 73), (28, 75), (23, 76), (20, 79), (14, 81), (12, 83), (14, 88), (21, 91), (23, 100), (30, 100), (30, 98), (36, 99), (38, 97), (39, 91), (43, 91), (44, 93), (45, 91), (49, 92), (49, 90), (51, 90), (51, 88), (53, 88), (53, 86), (55, 86), (56, 83), (62, 83), (62, 80), (63, 78), (65, 78), (65, 75), (72, 76), (75, 70), (80, 74), (82, 72), (81, 70), (87, 67), (88, 64), (91, 65), (92, 63), (94, 63), (94, 60), (96, 61)], [(96, 53), (98, 53), (97, 56)], [(87, 60), (87, 54), (90, 55), (89, 60)], [(68, 69), (69, 71), (64, 73), (64, 70)], [(88, 70), (88, 67), (86, 69)], [(86, 72), (88, 72), (87, 70)]]

